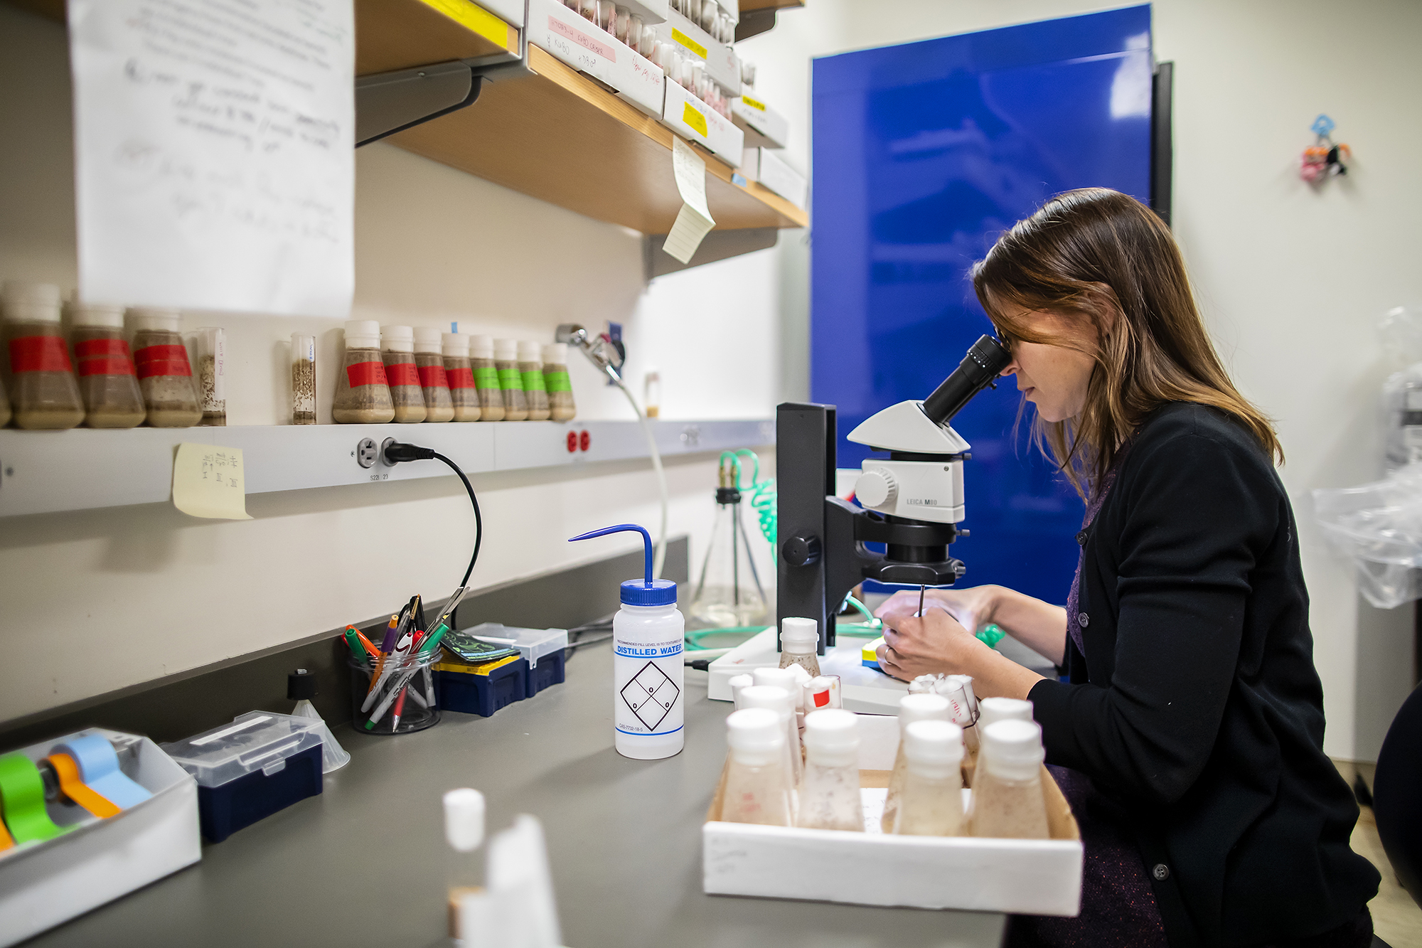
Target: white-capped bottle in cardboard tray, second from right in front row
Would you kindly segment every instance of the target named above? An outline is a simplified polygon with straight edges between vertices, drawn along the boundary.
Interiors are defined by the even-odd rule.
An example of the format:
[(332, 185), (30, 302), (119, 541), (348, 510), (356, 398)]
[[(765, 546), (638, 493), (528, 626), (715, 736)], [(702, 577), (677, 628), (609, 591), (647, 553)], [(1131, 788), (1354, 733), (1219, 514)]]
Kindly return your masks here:
[(944, 720), (916, 720), (903, 732), (904, 777), (893, 831), (961, 836), (963, 730)]

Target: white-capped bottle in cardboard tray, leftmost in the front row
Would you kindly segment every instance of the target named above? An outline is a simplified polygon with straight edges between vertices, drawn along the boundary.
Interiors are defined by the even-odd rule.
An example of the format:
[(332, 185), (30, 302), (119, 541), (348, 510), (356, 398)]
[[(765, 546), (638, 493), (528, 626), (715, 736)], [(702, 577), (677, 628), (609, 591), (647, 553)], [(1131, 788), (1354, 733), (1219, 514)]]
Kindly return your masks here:
[(747, 707), (725, 719), (731, 747), (721, 794), (721, 820), (791, 826), (791, 781), (785, 773), (785, 729), (775, 712)]

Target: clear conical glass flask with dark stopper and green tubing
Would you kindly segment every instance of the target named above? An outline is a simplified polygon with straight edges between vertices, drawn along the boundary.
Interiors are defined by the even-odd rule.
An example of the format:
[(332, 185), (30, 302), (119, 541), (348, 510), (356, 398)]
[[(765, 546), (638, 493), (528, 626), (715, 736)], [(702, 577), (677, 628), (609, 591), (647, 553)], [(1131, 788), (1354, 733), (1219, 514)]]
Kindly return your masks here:
[(702, 626), (745, 626), (765, 619), (765, 591), (741, 522), (741, 491), (734, 487), (734, 465), (721, 465), (711, 544), (691, 602), (691, 619)]

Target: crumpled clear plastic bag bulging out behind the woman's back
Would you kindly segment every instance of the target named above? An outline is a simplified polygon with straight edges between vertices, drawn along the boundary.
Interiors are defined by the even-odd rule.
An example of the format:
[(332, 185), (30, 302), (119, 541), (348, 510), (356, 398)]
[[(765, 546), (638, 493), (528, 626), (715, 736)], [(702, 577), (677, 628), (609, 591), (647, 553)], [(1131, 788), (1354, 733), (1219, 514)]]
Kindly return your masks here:
[(1392, 609), (1422, 598), (1422, 461), (1372, 484), (1315, 490), (1314, 517), (1357, 567), (1368, 602)]

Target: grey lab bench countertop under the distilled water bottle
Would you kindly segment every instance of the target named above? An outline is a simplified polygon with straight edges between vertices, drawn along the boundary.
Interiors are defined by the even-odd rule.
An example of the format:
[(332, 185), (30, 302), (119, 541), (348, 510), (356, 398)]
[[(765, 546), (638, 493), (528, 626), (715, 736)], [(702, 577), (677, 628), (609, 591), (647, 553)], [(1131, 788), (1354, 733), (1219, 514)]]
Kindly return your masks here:
[(705, 895), (701, 823), (731, 705), (687, 669), (687, 746), (613, 750), (611, 651), (574, 652), (567, 680), (493, 717), (447, 713), (400, 737), (336, 729), (351, 762), (317, 797), (203, 846), (202, 861), (26, 942), (58, 945), (447, 947), (447, 890), (482, 884), (444, 840), (441, 794), (476, 787), (488, 831), (543, 821), (572, 948), (995, 948), (993, 912)]

